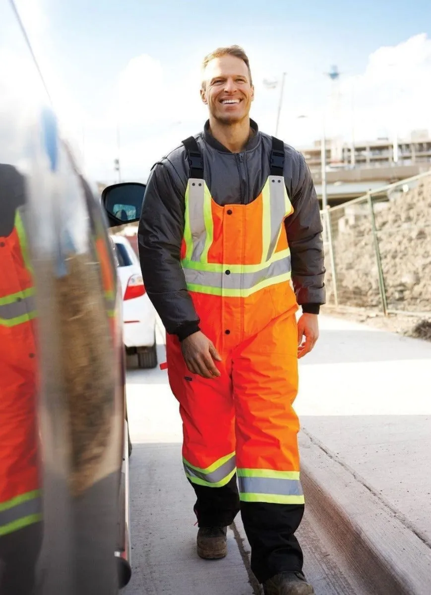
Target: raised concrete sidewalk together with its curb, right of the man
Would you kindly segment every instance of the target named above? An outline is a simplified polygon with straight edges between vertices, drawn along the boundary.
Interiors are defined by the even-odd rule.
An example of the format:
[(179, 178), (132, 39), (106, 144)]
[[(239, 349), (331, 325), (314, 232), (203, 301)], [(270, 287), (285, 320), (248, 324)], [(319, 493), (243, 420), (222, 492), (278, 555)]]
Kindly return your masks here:
[(393, 578), (382, 593), (431, 593), (431, 343), (322, 317), (300, 378), (315, 512), (348, 556)]

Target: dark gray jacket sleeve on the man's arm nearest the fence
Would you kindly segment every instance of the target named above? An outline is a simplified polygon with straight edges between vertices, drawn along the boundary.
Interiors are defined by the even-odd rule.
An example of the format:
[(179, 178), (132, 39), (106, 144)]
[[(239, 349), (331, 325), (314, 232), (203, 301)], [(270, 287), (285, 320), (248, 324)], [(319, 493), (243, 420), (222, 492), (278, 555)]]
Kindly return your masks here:
[(292, 282), (296, 300), (304, 312), (318, 314), (325, 303), (324, 255), (320, 210), (310, 169), (304, 156), (292, 179), (293, 214), (286, 220), (291, 249)]

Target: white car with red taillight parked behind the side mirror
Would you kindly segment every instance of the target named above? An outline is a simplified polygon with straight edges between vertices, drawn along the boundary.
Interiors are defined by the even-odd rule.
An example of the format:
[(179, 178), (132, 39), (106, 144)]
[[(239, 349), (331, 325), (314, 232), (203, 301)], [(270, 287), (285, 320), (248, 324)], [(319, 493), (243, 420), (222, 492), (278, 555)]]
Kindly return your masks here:
[(111, 236), (123, 293), (124, 345), (127, 355), (138, 354), (140, 368), (157, 366), (156, 312), (143, 285), (139, 258), (124, 236)]

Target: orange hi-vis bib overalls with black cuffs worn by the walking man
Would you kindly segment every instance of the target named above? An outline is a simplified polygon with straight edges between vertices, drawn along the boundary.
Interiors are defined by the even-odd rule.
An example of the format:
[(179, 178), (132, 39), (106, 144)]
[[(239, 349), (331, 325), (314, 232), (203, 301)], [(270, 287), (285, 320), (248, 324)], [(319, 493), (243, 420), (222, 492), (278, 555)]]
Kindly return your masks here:
[(293, 536), (304, 495), (292, 408), (298, 305), (285, 231), (293, 208), (283, 177), (284, 146), (273, 139), (271, 175), (254, 201), (220, 206), (205, 183), (195, 139), (184, 144), (191, 168), (182, 268), (200, 328), (222, 361), (219, 378), (193, 375), (179, 340), (167, 336), (169, 380), (183, 421), (183, 464), (198, 497), (200, 526), (232, 523), (241, 501), (252, 569), (264, 581), (302, 568)]

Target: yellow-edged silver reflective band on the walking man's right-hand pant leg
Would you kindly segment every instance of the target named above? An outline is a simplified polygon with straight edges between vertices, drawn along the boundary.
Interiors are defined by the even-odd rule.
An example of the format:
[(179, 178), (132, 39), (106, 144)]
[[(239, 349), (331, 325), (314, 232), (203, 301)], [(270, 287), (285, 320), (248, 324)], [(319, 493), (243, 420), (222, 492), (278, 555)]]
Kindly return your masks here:
[(304, 504), (299, 471), (238, 469), (238, 483), (242, 502)]

